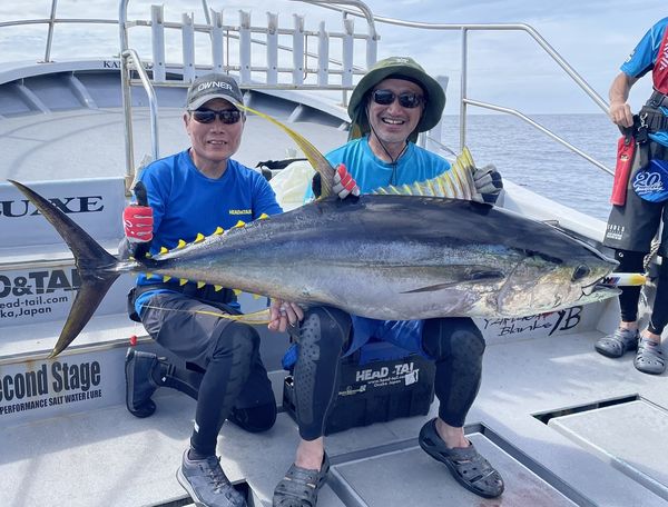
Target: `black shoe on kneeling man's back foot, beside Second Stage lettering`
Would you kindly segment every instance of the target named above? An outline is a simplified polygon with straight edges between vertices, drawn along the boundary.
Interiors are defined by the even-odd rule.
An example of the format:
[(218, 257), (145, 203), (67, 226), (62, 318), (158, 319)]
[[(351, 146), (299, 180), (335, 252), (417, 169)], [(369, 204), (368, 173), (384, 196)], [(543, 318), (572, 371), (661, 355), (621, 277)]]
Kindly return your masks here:
[(126, 406), (135, 417), (148, 417), (156, 411), (156, 404), (150, 397), (159, 387), (153, 378), (157, 365), (158, 356), (155, 354), (128, 348), (125, 367)]

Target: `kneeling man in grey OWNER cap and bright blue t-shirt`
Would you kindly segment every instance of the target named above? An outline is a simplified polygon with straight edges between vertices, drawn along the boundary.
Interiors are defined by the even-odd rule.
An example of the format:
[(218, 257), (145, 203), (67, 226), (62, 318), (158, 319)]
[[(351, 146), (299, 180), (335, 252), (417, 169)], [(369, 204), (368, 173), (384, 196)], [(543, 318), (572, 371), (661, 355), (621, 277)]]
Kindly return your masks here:
[[(274, 191), (258, 172), (232, 156), (237, 151), (245, 116), (242, 92), (226, 74), (197, 78), (188, 89), (184, 123), (190, 148), (157, 160), (140, 175), (147, 202), (124, 211), (130, 254), (138, 245), (151, 254), (171, 249), (248, 222), (263, 213), (279, 213)], [(144, 205), (144, 206), (141, 206)], [(273, 327), (285, 330), (302, 310), (272, 301), (283, 312)], [(130, 317), (160, 346), (183, 359), (177, 369), (154, 354), (129, 348), (126, 356), (126, 401), (137, 417), (156, 410), (151, 396), (167, 386), (197, 399), (190, 447), (183, 455), (177, 478), (197, 505), (243, 507), (246, 500), (229, 483), (216, 457), (218, 433), (225, 419), (248, 431), (264, 431), (276, 419), (276, 400), (259, 357), (259, 336), (247, 325), (216, 314), (238, 314), (232, 289), (199, 287), (196, 282), (163, 280), (139, 275), (130, 295)]]

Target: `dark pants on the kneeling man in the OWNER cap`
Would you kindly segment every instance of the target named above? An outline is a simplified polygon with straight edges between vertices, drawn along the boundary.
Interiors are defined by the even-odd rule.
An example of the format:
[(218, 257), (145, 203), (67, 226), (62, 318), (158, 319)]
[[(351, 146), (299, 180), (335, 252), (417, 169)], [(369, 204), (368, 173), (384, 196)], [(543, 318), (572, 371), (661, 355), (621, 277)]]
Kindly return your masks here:
[[(196, 389), (190, 446), (200, 455), (213, 456), (218, 433), (233, 407), (242, 406), (245, 419), (257, 418), (245, 422), (262, 430), (274, 424), (276, 401), (259, 358), (257, 331), (223, 317), (195, 314), (197, 310), (220, 312), (181, 294), (161, 292), (143, 307), (141, 322), (158, 344), (200, 369), (197, 381), (184, 380), (180, 385), (194, 384)], [(166, 385), (194, 396), (177, 380)]]

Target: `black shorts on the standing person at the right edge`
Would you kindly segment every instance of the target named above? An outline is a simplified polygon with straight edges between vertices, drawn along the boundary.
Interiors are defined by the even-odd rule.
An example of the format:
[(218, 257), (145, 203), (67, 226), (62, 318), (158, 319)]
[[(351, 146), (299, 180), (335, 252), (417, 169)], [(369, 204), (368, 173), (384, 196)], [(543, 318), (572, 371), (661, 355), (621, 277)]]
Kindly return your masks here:
[[(668, 147), (657, 142), (649, 143), (650, 158), (668, 160)], [(661, 221), (668, 223), (668, 201), (650, 202), (640, 199), (630, 182), (640, 169), (639, 149), (636, 149), (631, 176), (627, 185), (627, 197), (625, 206), (612, 206), (603, 245), (618, 250), (631, 250), (648, 252), (651, 240), (656, 236)], [(668, 256), (668, 227), (664, 226), (661, 233), (661, 257)]]

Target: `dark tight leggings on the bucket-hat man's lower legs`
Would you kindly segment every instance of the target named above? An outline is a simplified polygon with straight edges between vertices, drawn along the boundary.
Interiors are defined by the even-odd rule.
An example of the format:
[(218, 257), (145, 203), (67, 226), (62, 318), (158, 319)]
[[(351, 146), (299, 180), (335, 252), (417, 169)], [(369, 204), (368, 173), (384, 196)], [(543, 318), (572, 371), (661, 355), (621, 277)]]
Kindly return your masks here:
[[(306, 312), (294, 368), (296, 417), (305, 440), (324, 435), (337, 391), (340, 358), (351, 341), (350, 315), (328, 307)], [(464, 425), (478, 395), (484, 347), (482, 334), (469, 318), (425, 320), (422, 350), (435, 361), (439, 417), (450, 426)]]

